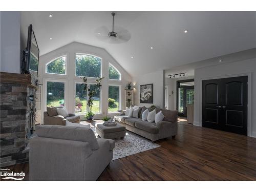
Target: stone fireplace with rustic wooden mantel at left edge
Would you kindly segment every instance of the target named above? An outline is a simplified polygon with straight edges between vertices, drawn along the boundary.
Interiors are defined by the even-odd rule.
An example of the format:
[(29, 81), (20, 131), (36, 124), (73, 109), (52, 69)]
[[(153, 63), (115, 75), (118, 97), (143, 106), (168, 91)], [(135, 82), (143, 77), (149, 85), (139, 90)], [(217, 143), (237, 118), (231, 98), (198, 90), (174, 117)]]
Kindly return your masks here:
[(35, 78), (1, 72), (1, 167), (28, 161), (24, 153), (35, 127)]

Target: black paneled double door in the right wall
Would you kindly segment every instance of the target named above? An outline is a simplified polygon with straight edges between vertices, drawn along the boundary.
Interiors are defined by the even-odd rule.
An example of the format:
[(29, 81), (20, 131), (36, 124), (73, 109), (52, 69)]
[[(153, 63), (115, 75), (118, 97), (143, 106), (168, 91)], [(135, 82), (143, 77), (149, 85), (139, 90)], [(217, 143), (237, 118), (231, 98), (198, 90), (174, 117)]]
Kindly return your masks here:
[(247, 135), (247, 76), (202, 81), (202, 126)]

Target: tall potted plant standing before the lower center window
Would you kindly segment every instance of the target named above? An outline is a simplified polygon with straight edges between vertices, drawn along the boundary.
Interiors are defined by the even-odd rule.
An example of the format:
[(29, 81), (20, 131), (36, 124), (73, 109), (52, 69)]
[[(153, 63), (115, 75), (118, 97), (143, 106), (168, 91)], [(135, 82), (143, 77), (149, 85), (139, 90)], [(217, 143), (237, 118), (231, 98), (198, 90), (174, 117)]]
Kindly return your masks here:
[(80, 77), (80, 78), (83, 80), (83, 83), (81, 84), (81, 86), (83, 87), (83, 90), (88, 92), (87, 105), (89, 107), (89, 111), (86, 113), (85, 117), (87, 118), (88, 121), (93, 121), (93, 117), (94, 117), (94, 113), (92, 112), (93, 101), (94, 101), (93, 97), (97, 93), (97, 91), (100, 91), (101, 80), (104, 77), (100, 77), (95, 80), (95, 84), (96, 84), (95, 89), (90, 89), (90, 87), (87, 84), (86, 77)]

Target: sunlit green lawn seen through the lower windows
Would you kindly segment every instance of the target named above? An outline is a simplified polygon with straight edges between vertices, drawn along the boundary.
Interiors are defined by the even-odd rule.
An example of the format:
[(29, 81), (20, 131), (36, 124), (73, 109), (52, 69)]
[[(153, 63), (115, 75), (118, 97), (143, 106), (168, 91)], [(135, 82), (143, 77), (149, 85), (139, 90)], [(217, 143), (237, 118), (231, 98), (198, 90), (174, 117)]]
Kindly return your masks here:
[[(81, 102), (82, 102), (82, 112), (84, 112), (84, 111), (86, 111), (87, 100), (84, 99), (84, 100), (81, 100)], [(116, 103), (117, 107), (116, 108), (109, 108), (108, 109), (109, 113), (117, 112), (119, 103), (118, 102), (115, 102), (115, 103)], [(47, 106), (60, 106), (59, 99), (58, 100), (48, 100), (47, 101)], [(92, 112), (95, 113), (95, 114), (99, 113), (99, 101), (93, 101)]]

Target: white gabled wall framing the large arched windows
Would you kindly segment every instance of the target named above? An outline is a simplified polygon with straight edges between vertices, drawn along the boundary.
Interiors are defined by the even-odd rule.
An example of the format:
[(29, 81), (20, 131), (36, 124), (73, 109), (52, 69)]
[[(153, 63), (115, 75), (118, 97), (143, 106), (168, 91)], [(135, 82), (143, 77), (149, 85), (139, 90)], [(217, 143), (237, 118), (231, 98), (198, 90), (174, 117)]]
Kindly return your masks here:
[[(124, 103), (124, 88), (127, 82), (131, 82), (130, 75), (117, 63), (117, 61), (104, 49), (80, 44), (78, 42), (72, 42), (66, 46), (63, 46), (59, 49), (56, 49), (50, 53), (42, 55), (39, 57), (39, 66), (38, 66), (38, 79), (40, 83), (44, 84), (42, 90), (42, 111), (46, 110), (46, 80), (60, 80), (66, 81), (65, 87), (65, 105), (67, 110), (70, 113), (74, 113), (74, 106), (75, 106), (75, 82), (82, 82), (82, 80), (75, 76), (75, 54), (76, 53), (84, 53), (84, 54), (91, 54), (102, 58), (102, 88), (101, 88), (101, 114), (95, 115), (95, 119), (102, 118), (102, 116), (106, 116), (108, 113), (108, 86), (109, 85), (118, 85), (120, 86), (120, 93), (121, 93), (121, 106), (120, 109), (125, 109)], [(53, 59), (67, 55), (67, 74), (66, 75), (56, 75), (56, 74), (48, 74), (46, 73), (46, 64), (52, 61)], [(109, 75), (109, 62), (121, 73), (122, 80), (110, 80), (108, 79)], [(95, 78), (88, 78), (88, 83), (93, 83)], [(110, 116), (113, 116), (111, 114)]]

